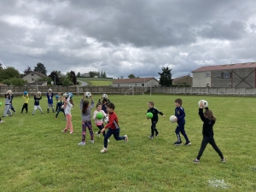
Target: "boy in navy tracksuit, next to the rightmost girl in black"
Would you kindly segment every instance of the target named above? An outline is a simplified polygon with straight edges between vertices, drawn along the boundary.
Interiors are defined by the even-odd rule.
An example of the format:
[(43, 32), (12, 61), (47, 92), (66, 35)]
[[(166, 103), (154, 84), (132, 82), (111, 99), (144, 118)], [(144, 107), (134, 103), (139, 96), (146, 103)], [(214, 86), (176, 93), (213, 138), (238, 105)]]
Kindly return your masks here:
[(175, 120), (177, 122), (177, 127), (175, 130), (176, 136), (177, 136), (177, 142), (175, 142), (175, 145), (181, 145), (183, 142), (181, 140), (179, 132), (183, 135), (183, 137), (186, 139), (185, 145), (190, 145), (191, 142), (189, 142), (189, 137), (186, 134), (185, 131), (185, 110), (182, 108), (183, 101), (181, 99), (175, 100), (175, 116), (177, 117)]

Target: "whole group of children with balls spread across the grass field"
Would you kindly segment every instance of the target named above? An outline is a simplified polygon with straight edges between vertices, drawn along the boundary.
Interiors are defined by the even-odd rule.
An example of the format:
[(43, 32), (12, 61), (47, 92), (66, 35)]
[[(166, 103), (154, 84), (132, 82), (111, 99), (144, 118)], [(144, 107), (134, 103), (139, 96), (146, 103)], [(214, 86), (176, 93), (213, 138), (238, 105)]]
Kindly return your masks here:
[[(52, 108), (52, 112), (55, 113), (55, 119), (57, 119), (58, 114), (60, 112), (64, 113), (64, 116), (67, 120), (67, 125), (62, 130), (62, 132), (67, 132), (69, 129), (70, 134), (73, 133), (73, 125), (72, 125), (72, 114), (71, 114), (71, 109), (73, 108), (73, 95), (69, 94), (64, 94), (63, 97), (61, 94), (57, 94), (55, 96), (56, 98), (56, 108), (53, 106), (53, 96), (54, 93), (52, 90), (48, 90), (46, 94), (48, 98), (48, 108), (47, 112), (49, 113), (49, 108)], [(7, 91), (7, 94), (5, 94), (5, 109), (3, 112), (3, 117), (9, 115), (12, 116), (11, 110), (15, 112), (15, 108), (12, 106), (12, 100), (13, 100), (13, 93), (11, 90)], [(24, 95), (22, 96), (24, 98), (24, 104), (21, 109), (21, 113), (23, 113), (23, 110), (26, 109), (27, 113), (27, 105), (29, 101), (29, 96), (25, 92)], [(32, 115), (35, 114), (36, 110), (39, 109), (41, 113), (43, 113), (42, 108), (39, 105), (39, 101), (42, 99), (42, 96), (40, 92), (36, 93), (34, 96), (34, 110), (32, 112)], [(184, 108), (182, 107), (183, 101), (181, 99), (176, 99), (175, 100), (175, 116), (176, 119), (175, 121), (177, 122), (177, 127), (175, 130), (176, 136), (177, 136), (177, 142), (175, 142), (175, 145), (181, 145), (182, 139), (180, 137), (180, 133), (183, 135), (183, 137), (186, 140), (186, 143), (184, 145), (188, 146), (191, 144), (189, 141), (189, 137), (186, 134), (185, 131), (185, 111)], [(90, 143), (94, 143), (94, 133), (92, 130), (92, 125), (91, 125), (91, 109), (94, 108), (94, 100), (93, 97), (90, 96), (90, 102), (88, 100), (84, 100), (84, 96), (82, 97), (79, 108), (81, 110), (81, 119), (82, 119), (82, 141), (79, 143), (79, 145), (85, 145), (85, 136), (86, 136), (86, 129), (88, 128), (90, 132)], [(93, 113), (93, 119), (95, 120), (96, 126), (98, 127), (99, 131), (96, 132), (96, 136), (100, 137), (100, 134), (102, 133), (104, 137), (104, 147), (100, 151), (101, 153), (105, 153), (108, 151), (108, 143), (109, 143), (109, 137), (113, 135), (115, 140), (125, 140), (125, 142), (128, 141), (127, 135), (124, 137), (119, 136), (119, 121), (116, 113), (114, 113), (114, 104), (113, 102), (110, 102), (108, 97), (106, 98), (100, 98), (99, 101), (96, 103), (96, 111)], [(203, 121), (203, 139), (201, 142), (201, 148), (199, 150), (199, 153), (196, 157), (195, 160), (193, 160), (195, 163), (200, 162), (201, 155), (203, 154), (205, 148), (207, 147), (207, 144), (210, 143), (212, 145), (212, 148), (215, 149), (215, 151), (218, 153), (220, 156), (222, 162), (225, 162), (224, 156), (218, 146), (215, 143), (215, 140), (213, 138), (213, 125), (215, 124), (216, 118), (213, 116), (213, 113), (209, 108), (205, 108), (205, 112), (203, 112), (204, 104), (203, 102), (200, 103), (200, 108), (199, 108), (199, 115), (201, 120)], [(103, 119), (107, 119), (107, 125), (104, 126), (103, 124), (103, 119), (97, 119), (96, 115), (97, 113), (102, 113), (103, 114)], [(158, 122), (158, 113), (162, 115), (164, 118), (166, 117), (164, 113), (160, 112), (157, 108), (154, 108), (154, 102), (148, 102), (148, 113), (152, 113), (153, 117), (151, 118), (151, 134), (148, 137), (149, 139), (154, 139), (154, 137), (157, 137), (159, 135), (159, 131), (156, 128), (156, 124)], [(147, 118), (148, 119), (148, 118)], [(3, 123), (3, 120), (0, 118), (0, 123)], [(105, 130), (108, 129), (108, 132), (105, 133)]]

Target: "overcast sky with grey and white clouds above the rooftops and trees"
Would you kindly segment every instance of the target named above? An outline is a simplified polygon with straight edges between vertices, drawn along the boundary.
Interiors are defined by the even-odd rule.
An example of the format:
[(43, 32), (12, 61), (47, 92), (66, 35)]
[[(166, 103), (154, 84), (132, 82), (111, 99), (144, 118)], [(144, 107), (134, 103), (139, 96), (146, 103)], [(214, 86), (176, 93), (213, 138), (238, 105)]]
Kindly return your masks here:
[[(256, 61), (255, 0), (1, 0), (0, 63), (172, 77)], [(190, 73), (192, 74), (192, 73)]]

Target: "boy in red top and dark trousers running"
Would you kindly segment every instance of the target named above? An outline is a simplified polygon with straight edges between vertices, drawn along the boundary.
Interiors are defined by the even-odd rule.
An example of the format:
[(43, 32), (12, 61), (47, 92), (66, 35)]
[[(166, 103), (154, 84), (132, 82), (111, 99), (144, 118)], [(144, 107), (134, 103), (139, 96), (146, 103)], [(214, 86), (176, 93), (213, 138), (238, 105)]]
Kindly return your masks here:
[(116, 141), (119, 140), (125, 140), (125, 142), (128, 142), (128, 136), (125, 135), (124, 137), (119, 137), (119, 120), (118, 117), (116, 116), (116, 113), (114, 113), (114, 104), (113, 102), (108, 103), (107, 105), (107, 110), (108, 110), (108, 118), (109, 122), (108, 125), (106, 125), (101, 132), (105, 131), (105, 129), (108, 129), (107, 134), (104, 137), (104, 147), (100, 151), (101, 153), (105, 153), (108, 151), (108, 138), (113, 135)]

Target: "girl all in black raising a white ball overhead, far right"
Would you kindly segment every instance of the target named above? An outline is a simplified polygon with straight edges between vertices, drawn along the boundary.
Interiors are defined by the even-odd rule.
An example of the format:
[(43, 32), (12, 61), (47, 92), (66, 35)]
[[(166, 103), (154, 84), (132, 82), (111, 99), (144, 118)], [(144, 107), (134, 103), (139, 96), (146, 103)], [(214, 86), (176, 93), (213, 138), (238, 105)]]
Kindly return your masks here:
[(218, 153), (220, 160), (222, 162), (225, 162), (225, 158), (224, 158), (223, 154), (221, 153), (220, 149), (218, 148), (218, 146), (216, 145), (214, 137), (213, 137), (213, 135), (214, 135), (213, 134), (213, 125), (216, 122), (216, 118), (213, 116), (213, 113), (211, 110), (209, 110), (209, 108), (206, 108), (205, 112), (203, 113), (203, 107), (204, 107), (204, 103), (200, 102), (200, 108), (199, 108), (198, 113), (199, 113), (199, 116), (200, 116), (202, 122), (204, 122), (203, 128), (202, 128), (203, 139), (201, 141), (201, 148), (197, 154), (196, 159), (193, 160), (193, 162), (195, 162), (195, 163), (200, 162), (201, 155), (203, 154), (208, 143), (210, 143), (212, 145), (212, 148), (214, 148), (214, 150)]

